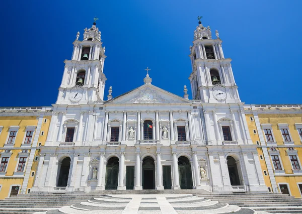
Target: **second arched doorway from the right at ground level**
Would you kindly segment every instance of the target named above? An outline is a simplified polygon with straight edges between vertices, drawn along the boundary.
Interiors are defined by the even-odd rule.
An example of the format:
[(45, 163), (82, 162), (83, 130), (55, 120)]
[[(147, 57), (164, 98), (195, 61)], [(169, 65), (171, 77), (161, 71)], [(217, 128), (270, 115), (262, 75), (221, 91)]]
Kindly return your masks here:
[(178, 158), (179, 183), (181, 189), (192, 189), (192, 170), (188, 158), (181, 156)]

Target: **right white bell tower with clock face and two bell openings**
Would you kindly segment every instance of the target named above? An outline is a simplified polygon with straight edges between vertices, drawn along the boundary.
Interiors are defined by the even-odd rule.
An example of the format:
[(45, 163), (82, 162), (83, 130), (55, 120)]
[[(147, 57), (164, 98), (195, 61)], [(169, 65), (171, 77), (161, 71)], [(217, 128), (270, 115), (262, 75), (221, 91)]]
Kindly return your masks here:
[(198, 17), (193, 47), (190, 46), (192, 99), (210, 103), (241, 102), (231, 59), (224, 58), (218, 31), (215, 31), (216, 39), (213, 39), (210, 27), (204, 27), (201, 18)]

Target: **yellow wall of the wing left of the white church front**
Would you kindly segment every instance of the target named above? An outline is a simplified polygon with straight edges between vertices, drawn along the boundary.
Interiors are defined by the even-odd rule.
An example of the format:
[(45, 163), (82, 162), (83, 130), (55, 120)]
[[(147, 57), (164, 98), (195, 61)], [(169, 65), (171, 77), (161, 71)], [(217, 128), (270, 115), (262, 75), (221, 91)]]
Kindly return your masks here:
[[(14, 172), (16, 171), (16, 166), (19, 161), (18, 153), (22, 152), (22, 149), (15, 149), (15, 148), (20, 148), (21, 144), (24, 143), (23, 140), (24, 140), (24, 136), (25, 136), (26, 126), (37, 126), (38, 118), (39, 118), (38, 116), (0, 117), (0, 126), (4, 127), (0, 134), (0, 147), (4, 147), (5, 143), (7, 143), (7, 137), (9, 135), (10, 126), (19, 126), (20, 127), (18, 130), (16, 139), (15, 139), (14, 148), (7, 148), (7, 149), (11, 149), (12, 154), (9, 159), (9, 163), (7, 166), (7, 173), (5, 174), (5, 177), (0, 177), (0, 185), (2, 185), (2, 189), (0, 191), (0, 199), (9, 197), (9, 192), (10, 192), (12, 184), (14, 184), (14, 185), (19, 184), (20, 186), (22, 186), (22, 184), (23, 184), (24, 178), (12, 177), (14, 175)], [(46, 123), (44, 123), (44, 119), (47, 119)], [(50, 120), (51, 120), (51, 116), (44, 116), (42, 126), (41, 126), (41, 132), (44, 131), (44, 135), (41, 136), (41, 133), (39, 133), (39, 138), (38, 138), (38, 142), (36, 145), (33, 144), (33, 142), (34, 142), (34, 138), (33, 138), (32, 145), (31, 145), (32, 147), (37, 147), (39, 142), (41, 142), (41, 145), (45, 144)], [(34, 135), (35, 134), (36, 133), (34, 133)], [(0, 150), (0, 152), (4, 152), (5, 151), (4, 149), (5, 148)], [(28, 152), (31, 151), (30, 148), (24, 148), (24, 149), (27, 149)], [(35, 151), (35, 156), (38, 156), (39, 152), (40, 152), (39, 149), (37, 149)], [(1, 155), (1, 153), (0, 153), (0, 155)], [(35, 158), (35, 156), (34, 156), (34, 158)], [(28, 158), (29, 158), (29, 155), (27, 157), (27, 164), (30, 161)], [(1, 157), (0, 157), (0, 160), (2, 160)], [(31, 172), (30, 172), (30, 177), (29, 177), (29, 182), (27, 185), (26, 193), (27, 193), (28, 188), (32, 187), (34, 178), (36, 177), (36, 169), (37, 169), (38, 161), (34, 161), (34, 160), (32, 160), (32, 161), (33, 161), (33, 164), (31, 166), (31, 172), (34, 171), (35, 175), (32, 177)], [(25, 175), (25, 170), (26, 170), (26, 166), (24, 169), (24, 175)], [(20, 191), (19, 191), (19, 193), (20, 193)]]

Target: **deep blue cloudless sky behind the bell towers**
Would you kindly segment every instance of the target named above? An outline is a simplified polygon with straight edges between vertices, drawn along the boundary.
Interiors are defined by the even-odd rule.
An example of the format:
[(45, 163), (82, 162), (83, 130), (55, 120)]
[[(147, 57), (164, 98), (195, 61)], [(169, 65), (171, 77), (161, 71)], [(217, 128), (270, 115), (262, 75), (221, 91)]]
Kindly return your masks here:
[(97, 16), (107, 58), (105, 99), (143, 84), (183, 96), (188, 57), (202, 23), (219, 31), (241, 100), (301, 103), (302, 1), (6, 1), (2, 3), (0, 106), (51, 105), (78, 31)]

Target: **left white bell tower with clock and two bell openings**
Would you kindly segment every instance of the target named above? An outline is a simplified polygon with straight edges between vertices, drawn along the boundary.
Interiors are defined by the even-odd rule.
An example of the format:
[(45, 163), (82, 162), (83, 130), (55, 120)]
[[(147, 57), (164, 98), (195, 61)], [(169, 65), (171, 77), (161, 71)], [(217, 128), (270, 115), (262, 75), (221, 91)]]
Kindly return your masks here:
[(84, 38), (73, 42), (71, 60), (65, 60), (63, 78), (56, 104), (89, 104), (103, 100), (106, 76), (103, 73), (105, 47), (102, 47), (101, 31), (96, 21), (84, 29)]

